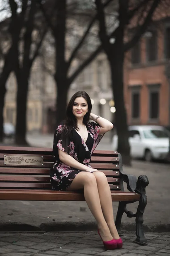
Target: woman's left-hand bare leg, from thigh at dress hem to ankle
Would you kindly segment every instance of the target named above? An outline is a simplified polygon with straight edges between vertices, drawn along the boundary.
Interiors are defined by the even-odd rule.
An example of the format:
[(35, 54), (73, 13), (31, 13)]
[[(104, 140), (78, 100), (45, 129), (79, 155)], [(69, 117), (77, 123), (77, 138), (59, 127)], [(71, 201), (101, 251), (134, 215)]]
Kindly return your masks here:
[(95, 176), (90, 172), (79, 172), (68, 187), (68, 190), (71, 191), (79, 189), (84, 189), (85, 201), (97, 221), (103, 241), (112, 240), (113, 237), (111, 236), (110, 230), (103, 216)]

